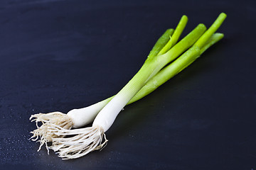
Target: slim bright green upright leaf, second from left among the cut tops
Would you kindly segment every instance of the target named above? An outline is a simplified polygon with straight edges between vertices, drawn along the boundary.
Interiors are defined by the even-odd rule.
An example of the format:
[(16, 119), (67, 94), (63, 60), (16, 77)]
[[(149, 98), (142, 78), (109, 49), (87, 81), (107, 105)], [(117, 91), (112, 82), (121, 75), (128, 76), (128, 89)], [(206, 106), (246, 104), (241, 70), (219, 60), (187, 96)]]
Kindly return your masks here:
[(186, 27), (187, 22), (188, 22), (188, 17), (185, 15), (182, 16), (181, 20), (178, 23), (178, 26), (174, 30), (174, 34), (171, 36), (170, 40), (166, 43), (166, 45), (161, 49), (158, 55), (163, 55), (166, 51), (170, 50), (171, 47), (173, 47), (176, 44), (176, 42), (178, 41), (178, 38), (181, 36), (181, 33)]

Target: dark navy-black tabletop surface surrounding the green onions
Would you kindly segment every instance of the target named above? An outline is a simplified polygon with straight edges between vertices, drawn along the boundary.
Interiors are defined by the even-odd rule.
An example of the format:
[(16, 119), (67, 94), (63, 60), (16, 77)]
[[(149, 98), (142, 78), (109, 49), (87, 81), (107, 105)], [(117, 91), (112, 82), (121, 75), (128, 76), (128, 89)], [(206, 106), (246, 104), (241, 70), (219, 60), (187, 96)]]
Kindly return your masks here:
[[(127, 106), (107, 147), (61, 160), (28, 140), (35, 113), (116, 94), (157, 38), (189, 18), (225, 38)], [(253, 1), (0, 1), (0, 169), (256, 169)]]

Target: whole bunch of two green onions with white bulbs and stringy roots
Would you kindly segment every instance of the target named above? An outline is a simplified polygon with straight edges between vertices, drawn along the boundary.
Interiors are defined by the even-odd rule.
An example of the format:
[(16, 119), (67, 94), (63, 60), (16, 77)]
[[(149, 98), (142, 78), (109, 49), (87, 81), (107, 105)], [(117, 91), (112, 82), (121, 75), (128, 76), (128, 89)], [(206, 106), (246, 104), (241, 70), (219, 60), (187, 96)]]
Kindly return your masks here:
[[(75, 159), (104, 147), (107, 143), (105, 132), (124, 106), (150, 94), (222, 39), (223, 34), (215, 31), (225, 18), (225, 13), (220, 13), (208, 30), (206, 26), (199, 24), (178, 42), (188, 21), (187, 16), (182, 16), (176, 29), (166, 30), (139, 72), (115, 96), (92, 106), (73, 109), (67, 114), (53, 112), (31, 115), (30, 119), (36, 121), (37, 126), (37, 129), (31, 132), (31, 138), (41, 142), (38, 151), (45, 144), (47, 149), (53, 149), (63, 159)], [(89, 123), (92, 123), (92, 127), (81, 128)]]

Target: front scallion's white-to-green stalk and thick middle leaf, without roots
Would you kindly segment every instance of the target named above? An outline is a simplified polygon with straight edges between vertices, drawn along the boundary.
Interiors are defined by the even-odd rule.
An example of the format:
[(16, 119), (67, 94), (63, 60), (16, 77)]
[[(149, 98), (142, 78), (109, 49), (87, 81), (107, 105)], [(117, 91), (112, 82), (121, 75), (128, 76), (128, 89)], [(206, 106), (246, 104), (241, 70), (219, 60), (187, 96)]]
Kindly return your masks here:
[(100, 126), (106, 132), (114, 123), (115, 118), (122, 111), (122, 108), (132, 99), (137, 92), (142, 89), (146, 81), (159, 72), (166, 64), (175, 60), (176, 57), (181, 55), (191, 45), (193, 45), (198, 38), (206, 31), (206, 26), (199, 24), (194, 30), (191, 31), (185, 38), (178, 42), (164, 55), (157, 57), (147, 58), (139, 72), (119, 91), (119, 93), (102, 108), (100, 113), (96, 116), (92, 127)]

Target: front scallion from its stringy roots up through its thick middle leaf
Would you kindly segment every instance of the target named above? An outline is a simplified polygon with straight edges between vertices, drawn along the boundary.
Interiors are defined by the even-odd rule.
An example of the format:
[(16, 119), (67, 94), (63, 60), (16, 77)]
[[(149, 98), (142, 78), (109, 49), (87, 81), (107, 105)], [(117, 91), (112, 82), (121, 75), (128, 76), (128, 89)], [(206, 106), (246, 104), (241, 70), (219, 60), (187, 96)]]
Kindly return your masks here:
[[(101, 149), (107, 143), (105, 132), (110, 128), (112, 123), (114, 123), (114, 119), (117, 117), (119, 111), (137, 94), (149, 77), (154, 76), (154, 72), (156, 72), (157, 69), (157, 72), (159, 72), (166, 64), (175, 60), (178, 55), (181, 55), (185, 50), (191, 47), (205, 30), (206, 27), (203, 24), (199, 24), (191, 33), (174, 45), (169, 52), (154, 57), (151, 60), (147, 59), (142, 69), (140, 69), (132, 80), (97, 114), (92, 123), (92, 127), (75, 130), (60, 128), (58, 132), (54, 133), (60, 137), (53, 138), (52, 145), (49, 148), (57, 152), (59, 157), (63, 159), (75, 159), (93, 150)], [(194, 49), (194, 52), (200, 51), (198, 47)], [(61, 136), (65, 137), (63, 138)]]

